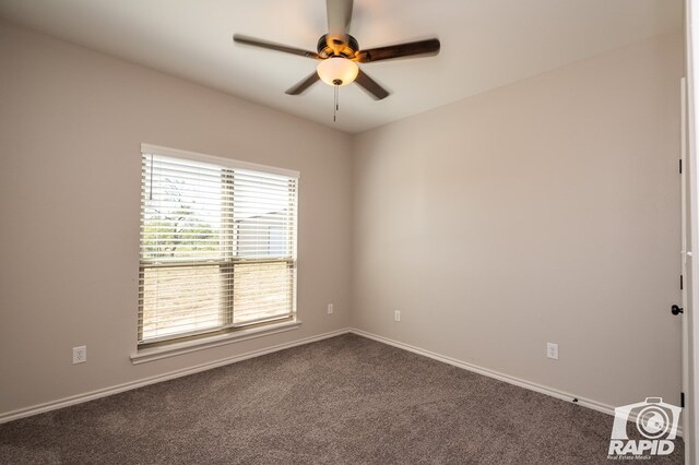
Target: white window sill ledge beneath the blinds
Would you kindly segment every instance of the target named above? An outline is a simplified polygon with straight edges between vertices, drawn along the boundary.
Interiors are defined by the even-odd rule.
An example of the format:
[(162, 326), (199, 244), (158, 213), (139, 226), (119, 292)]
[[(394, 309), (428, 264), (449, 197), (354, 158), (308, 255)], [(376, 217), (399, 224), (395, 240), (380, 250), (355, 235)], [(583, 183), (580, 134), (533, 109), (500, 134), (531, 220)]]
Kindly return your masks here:
[(183, 343), (168, 344), (167, 346), (145, 348), (131, 354), (131, 362), (133, 365), (145, 363), (149, 361), (161, 360), (163, 358), (175, 357), (192, 351), (204, 350), (212, 347), (218, 347), (226, 344), (238, 343), (241, 341), (254, 339), (257, 337), (269, 336), (271, 334), (283, 333), (296, 330), (300, 326), (299, 320), (285, 321), (283, 323), (270, 324), (262, 327), (251, 327), (235, 333), (221, 334), (217, 336), (206, 337), (198, 341), (187, 341)]

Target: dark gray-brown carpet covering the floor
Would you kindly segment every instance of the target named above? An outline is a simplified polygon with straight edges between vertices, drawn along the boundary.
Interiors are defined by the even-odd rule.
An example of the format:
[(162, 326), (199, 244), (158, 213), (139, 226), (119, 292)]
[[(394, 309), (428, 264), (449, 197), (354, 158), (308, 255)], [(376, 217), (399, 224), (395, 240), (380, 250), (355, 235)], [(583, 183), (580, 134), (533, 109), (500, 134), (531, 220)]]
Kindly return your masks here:
[(609, 464), (612, 422), (343, 335), (0, 425), (0, 463)]

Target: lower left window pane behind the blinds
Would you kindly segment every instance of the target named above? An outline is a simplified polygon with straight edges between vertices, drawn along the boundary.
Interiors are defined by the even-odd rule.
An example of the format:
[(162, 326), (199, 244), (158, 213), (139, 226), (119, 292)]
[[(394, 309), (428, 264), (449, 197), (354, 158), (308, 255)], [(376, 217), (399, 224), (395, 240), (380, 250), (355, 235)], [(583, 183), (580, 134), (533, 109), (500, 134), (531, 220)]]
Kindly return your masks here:
[(224, 283), (218, 265), (144, 269), (141, 341), (224, 324)]

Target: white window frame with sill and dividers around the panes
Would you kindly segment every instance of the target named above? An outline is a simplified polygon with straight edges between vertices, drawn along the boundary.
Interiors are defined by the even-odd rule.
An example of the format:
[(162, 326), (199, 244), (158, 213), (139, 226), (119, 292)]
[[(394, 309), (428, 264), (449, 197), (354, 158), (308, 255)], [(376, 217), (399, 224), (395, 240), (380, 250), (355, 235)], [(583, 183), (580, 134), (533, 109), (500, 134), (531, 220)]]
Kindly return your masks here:
[[(298, 184), (300, 179), (300, 174), (295, 170), (277, 168), (268, 165), (260, 165), (249, 162), (242, 162), (232, 158), (217, 157), (212, 155), (205, 155), (196, 152), (188, 152), (177, 148), (163, 147), (158, 145), (152, 144), (141, 144), (141, 159), (144, 155), (155, 155), (155, 156), (165, 156), (179, 158), (188, 162), (198, 162), (212, 164), (215, 166), (220, 166), (222, 169), (230, 169), (233, 172), (235, 170), (247, 170), (247, 171), (256, 171), (260, 174), (270, 174), (277, 175), (283, 177), (288, 177), (295, 180), (295, 202), (294, 202), (294, 217), (293, 217), (293, 226), (288, 229), (288, 234), (291, 234), (291, 243), (292, 247), (292, 255), (286, 258), (245, 258), (245, 257), (235, 257), (222, 254), (221, 259), (216, 260), (206, 260), (206, 261), (168, 261), (166, 263), (158, 262), (157, 260), (144, 260), (141, 255), (141, 240), (139, 240), (139, 295), (144, 289), (142, 286), (142, 282), (144, 278), (144, 274), (147, 269), (163, 269), (163, 267), (192, 267), (192, 266), (217, 266), (218, 272), (224, 273), (226, 275), (225, 286), (232, 287), (234, 286), (234, 269), (236, 265), (246, 265), (246, 264), (256, 264), (256, 263), (284, 263), (287, 269), (291, 271), (292, 283), (289, 289), (289, 307), (291, 311), (288, 314), (270, 317), (261, 320), (253, 320), (249, 322), (234, 323), (234, 311), (233, 311), (233, 300), (234, 293), (229, 291), (226, 294), (226, 302), (224, 303), (224, 308), (221, 309), (221, 318), (224, 320), (223, 325), (218, 325), (213, 327), (210, 331), (206, 330), (193, 330), (190, 333), (178, 333), (174, 335), (164, 335), (159, 337), (152, 337), (147, 341), (143, 341), (143, 303), (141, 301), (141, 297), (139, 297), (139, 308), (138, 308), (138, 331), (137, 331), (137, 351), (132, 354), (132, 360), (135, 363), (137, 360), (142, 359), (143, 357), (149, 358), (153, 354), (158, 355), (163, 353), (167, 353), (168, 347), (173, 347), (175, 353), (191, 351), (192, 347), (198, 345), (220, 345), (226, 344), (228, 339), (247, 339), (250, 337), (254, 337), (256, 334), (264, 335), (264, 334), (274, 334), (280, 331), (287, 331), (288, 329), (298, 327), (300, 321), (297, 318), (297, 287), (298, 287), (298, 278), (297, 278), (297, 264), (298, 264)], [(141, 181), (141, 195), (143, 195), (143, 181)], [(140, 231), (144, 229), (144, 210), (143, 210), (143, 200), (141, 200), (140, 207)], [(239, 337), (237, 337), (239, 336)], [(232, 342), (232, 341), (230, 341)], [(159, 356), (156, 358), (161, 358)], [(147, 360), (146, 360), (147, 361)]]

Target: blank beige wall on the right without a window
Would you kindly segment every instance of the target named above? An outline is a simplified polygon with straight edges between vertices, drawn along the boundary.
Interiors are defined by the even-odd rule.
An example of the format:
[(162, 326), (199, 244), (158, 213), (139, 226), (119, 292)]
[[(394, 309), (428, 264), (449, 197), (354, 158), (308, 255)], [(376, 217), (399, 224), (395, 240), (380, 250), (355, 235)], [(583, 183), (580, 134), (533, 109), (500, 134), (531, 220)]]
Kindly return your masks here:
[(357, 136), (353, 325), (607, 405), (678, 403), (682, 47)]

